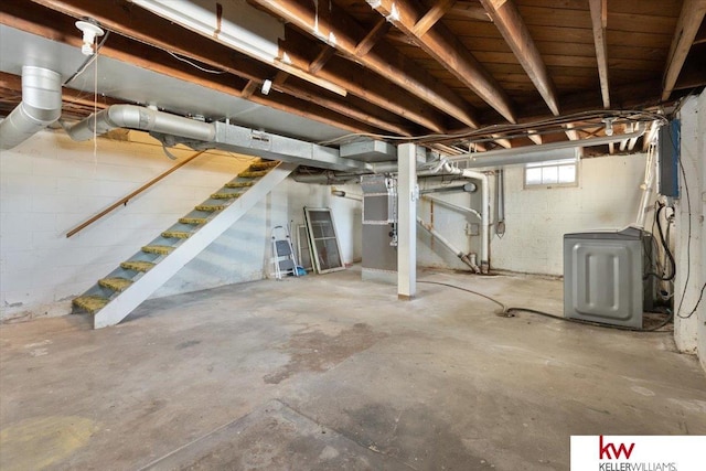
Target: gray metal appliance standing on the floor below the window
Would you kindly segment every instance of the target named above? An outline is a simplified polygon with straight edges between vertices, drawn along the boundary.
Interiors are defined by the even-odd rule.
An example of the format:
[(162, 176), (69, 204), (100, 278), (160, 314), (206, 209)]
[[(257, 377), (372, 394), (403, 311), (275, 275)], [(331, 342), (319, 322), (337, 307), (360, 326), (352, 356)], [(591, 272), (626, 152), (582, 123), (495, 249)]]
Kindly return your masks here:
[(652, 236), (637, 227), (564, 235), (564, 315), (642, 328), (653, 300)]

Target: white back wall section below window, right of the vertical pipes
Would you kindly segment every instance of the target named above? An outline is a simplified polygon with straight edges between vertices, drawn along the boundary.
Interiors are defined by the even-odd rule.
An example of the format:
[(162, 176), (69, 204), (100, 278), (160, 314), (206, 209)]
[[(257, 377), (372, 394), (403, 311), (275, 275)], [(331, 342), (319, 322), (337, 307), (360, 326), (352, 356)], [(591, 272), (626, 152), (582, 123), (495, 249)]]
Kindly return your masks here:
[(506, 168), (506, 231), (502, 238), (492, 236), (491, 266), (563, 275), (564, 234), (617, 229), (635, 222), (645, 159), (642, 153), (581, 159), (577, 186), (525, 189), (523, 168)]

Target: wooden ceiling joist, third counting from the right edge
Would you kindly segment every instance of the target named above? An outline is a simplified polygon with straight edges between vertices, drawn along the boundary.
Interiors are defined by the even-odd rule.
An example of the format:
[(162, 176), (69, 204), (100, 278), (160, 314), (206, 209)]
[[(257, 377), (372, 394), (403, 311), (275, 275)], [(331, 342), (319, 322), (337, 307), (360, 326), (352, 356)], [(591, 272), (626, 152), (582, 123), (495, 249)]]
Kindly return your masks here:
[(558, 116), (559, 99), (556, 87), (515, 3), (512, 0), (480, 0), (480, 2), (490, 14), (498, 30), (500, 30), (517, 61), (520, 61), (539, 95), (544, 98), (552, 114)]

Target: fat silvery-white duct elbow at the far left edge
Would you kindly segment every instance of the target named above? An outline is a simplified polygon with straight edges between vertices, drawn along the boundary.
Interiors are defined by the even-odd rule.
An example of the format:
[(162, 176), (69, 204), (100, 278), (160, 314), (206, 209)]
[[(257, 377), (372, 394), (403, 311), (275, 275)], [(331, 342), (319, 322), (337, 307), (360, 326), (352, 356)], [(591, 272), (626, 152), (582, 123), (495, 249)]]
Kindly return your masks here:
[(9, 150), (62, 115), (62, 76), (49, 68), (22, 67), (22, 101), (0, 122), (0, 149)]

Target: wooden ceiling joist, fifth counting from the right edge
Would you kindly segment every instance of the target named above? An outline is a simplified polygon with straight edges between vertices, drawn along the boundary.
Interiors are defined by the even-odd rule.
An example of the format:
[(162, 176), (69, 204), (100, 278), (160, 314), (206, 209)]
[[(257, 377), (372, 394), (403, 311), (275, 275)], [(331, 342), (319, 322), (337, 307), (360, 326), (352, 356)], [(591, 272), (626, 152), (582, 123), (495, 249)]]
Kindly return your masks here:
[[(335, 10), (332, 14), (327, 14), (327, 18), (322, 18), (318, 15), (313, 8), (298, 2), (277, 0), (252, 1), (292, 23), (308, 34), (336, 47), (353, 60), (362, 63), (365, 67), (439, 110), (468, 126), (478, 127), (479, 121), (475, 117), (475, 110), (466, 100), (418, 65), (407, 60), (393, 46), (378, 43), (365, 56), (356, 57), (356, 39), (364, 38), (366, 31), (342, 10)], [(334, 9), (336, 8), (335, 3), (329, 3), (328, 6)]]

